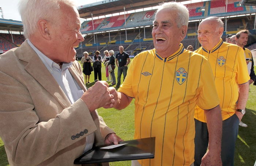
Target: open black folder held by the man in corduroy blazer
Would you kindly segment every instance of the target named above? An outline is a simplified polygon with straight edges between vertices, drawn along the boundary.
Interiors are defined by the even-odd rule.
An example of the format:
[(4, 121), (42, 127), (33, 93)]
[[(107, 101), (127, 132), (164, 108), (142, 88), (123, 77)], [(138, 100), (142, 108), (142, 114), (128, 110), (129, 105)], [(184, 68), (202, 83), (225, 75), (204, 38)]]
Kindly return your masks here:
[(100, 149), (101, 147), (114, 145), (113, 143), (95, 146), (75, 159), (74, 164), (137, 160), (154, 158), (155, 156), (155, 137), (119, 142), (119, 144), (124, 143), (127, 144), (113, 149)]

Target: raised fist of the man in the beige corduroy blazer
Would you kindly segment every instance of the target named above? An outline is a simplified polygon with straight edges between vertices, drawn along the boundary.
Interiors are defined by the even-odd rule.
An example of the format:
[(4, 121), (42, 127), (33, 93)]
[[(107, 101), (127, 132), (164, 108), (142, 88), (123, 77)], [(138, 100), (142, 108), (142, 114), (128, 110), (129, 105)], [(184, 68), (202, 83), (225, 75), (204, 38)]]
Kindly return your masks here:
[(87, 105), (90, 112), (97, 108), (114, 103), (113, 95), (109, 92), (109, 85), (105, 81), (98, 81), (90, 87), (81, 99)]

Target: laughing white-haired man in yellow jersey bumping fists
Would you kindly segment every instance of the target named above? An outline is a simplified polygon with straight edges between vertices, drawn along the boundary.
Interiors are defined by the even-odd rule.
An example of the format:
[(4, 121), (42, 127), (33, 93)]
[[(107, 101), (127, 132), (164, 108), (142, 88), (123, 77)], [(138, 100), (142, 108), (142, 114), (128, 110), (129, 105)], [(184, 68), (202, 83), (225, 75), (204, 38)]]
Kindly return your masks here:
[(210, 129), (203, 165), (221, 165), (221, 110), (210, 63), (180, 43), (188, 18), (184, 5), (163, 3), (153, 22), (155, 48), (133, 59), (124, 83), (112, 92), (118, 110), (135, 98), (134, 139), (156, 139), (155, 158), (132, 161), (132, 166), (193, 165), (196, 104), (206, 110)]

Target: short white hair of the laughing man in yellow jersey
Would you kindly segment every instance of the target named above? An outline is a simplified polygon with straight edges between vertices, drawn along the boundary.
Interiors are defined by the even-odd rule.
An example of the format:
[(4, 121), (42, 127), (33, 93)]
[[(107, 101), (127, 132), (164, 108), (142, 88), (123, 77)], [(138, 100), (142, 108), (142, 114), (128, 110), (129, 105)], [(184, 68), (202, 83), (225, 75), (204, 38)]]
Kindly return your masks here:
[(175, 19), (177, 27), (180, 28), (183, 25), (188, 26), (189, 13), (187, 7), (177, 2), (166, 2), (161, 3), (156, 14), (162, 9), (175, 9), (178, 13), (178, 16)]

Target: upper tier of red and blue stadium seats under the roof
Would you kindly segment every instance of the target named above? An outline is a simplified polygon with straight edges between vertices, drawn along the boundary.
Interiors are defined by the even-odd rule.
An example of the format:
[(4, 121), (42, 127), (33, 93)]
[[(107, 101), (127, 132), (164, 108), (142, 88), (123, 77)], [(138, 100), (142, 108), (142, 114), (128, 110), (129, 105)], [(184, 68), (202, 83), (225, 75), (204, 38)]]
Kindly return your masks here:
[[(256, 12), (256, 7), (241, 7), (239, 0), (227, 0), (227, 12), (226, 0), (211, 0), (185, 5), (189, 9), (189, 20), (203, 19), (209, 16), (223, 17)], [(114, 29), (152, 25), (154, 16), (155, 10), (126, 14), (126, 26), (124, 21), (124, 15), (96, 19), (94, 20), (94, 31), (92, 29), (92, 20), (84, 21), (84, 23), (82, 24), (81, 32), (83, 34), (86, 34)]]

